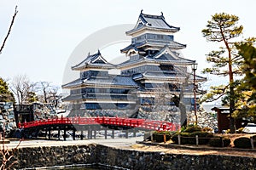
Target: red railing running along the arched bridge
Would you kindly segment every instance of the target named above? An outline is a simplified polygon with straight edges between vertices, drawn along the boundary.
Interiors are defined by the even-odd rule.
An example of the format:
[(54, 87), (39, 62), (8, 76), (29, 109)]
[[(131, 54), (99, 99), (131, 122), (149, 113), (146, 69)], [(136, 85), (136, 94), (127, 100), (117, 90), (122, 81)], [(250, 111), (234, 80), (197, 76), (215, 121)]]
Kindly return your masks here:
[(167, 130), (177, 131), (179, 124), (164, 121), (153, 121), (147, 119), (123, 118), (123, 117), (61, 117), (53, 119), (45, 119), (33, 122), (24, 122), (19, 127), (30, 128), (46, 125), (73, 124), (73, 125), (115, 125), (120, 127), (140, 127), (148, 130)]

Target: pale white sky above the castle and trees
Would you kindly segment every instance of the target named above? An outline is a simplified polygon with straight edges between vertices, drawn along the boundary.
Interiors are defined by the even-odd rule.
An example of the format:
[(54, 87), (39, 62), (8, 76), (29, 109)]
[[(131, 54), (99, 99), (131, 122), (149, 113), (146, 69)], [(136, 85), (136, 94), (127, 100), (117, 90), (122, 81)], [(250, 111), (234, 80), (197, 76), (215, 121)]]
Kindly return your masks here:
[[(119, 35), (122, 40), (119, 41), (113, 31), (109, 34), (106, 29), (132, 28), (142, 9), (144, 14), (163, 12), (169, 25), (180, 27), (174, 39), (187, 45), (182, 50), (183, 57), (196, 60), (199, 75), (207, 66), (206, 54), (220, 46), (207, 42), (201, 34), (212, 14), (236, 14), (239, 24), (244, 26), (242, 37), (256, 35), (255, 0), (0, 0), (0, 44), (9, 29), (15, 5), (19, 12), (0, 54), (0, 77), (9, 81), (26, 74), (32, 82), (52, 82), (61, 86), (67, 82), (63, 77), (67, 77), (67, 70), (71, 71), (70, 66), (78, 64), (89, 52), (96, 52), (96, 48), (87, 51), (81, 44), (97, 46), (99, 43), (97, 48), (102, 50), (103, 57), (113, 60), (113, 56), (121, 55), (119, 49), (125, 48), (131, 37), (125, 36), (129, 29), (125, 30)], [(104, 42), (110, 37), (113, 40)], [(71, 59), (81, 47), (84, 50), (80, 50), (80, 60)], [(220, 82), (216, 77), (201, 76), (208, 78), (204, 84), (206, 88)]]

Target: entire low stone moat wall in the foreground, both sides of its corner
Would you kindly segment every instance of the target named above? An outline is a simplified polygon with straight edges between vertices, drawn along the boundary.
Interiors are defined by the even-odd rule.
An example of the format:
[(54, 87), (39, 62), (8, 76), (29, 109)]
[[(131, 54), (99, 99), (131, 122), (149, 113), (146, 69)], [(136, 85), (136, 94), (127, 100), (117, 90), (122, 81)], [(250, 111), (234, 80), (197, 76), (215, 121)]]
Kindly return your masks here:
[(20, 148), (16, 169), (97, 164), (126, 169), (256, 169), (256, 158), (193, 156), (110, 148), (101, 144)]

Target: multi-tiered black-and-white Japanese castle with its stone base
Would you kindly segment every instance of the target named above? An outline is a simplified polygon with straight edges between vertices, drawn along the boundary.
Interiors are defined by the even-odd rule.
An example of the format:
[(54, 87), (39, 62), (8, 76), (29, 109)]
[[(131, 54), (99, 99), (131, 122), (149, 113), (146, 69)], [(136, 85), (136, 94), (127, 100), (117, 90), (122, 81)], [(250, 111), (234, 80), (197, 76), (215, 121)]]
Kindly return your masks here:
[[(98, 51), (89, 54), (73, 71), (80, 77), (62, 88), (70, 89), (64, 100), (73, 104), (71, 116), (128, 116), (183, 122), (193, 110), (195, 60), (185, 59), (186, 45), (174, 41), (179, 27), (170, 26), (164, 15), (139, 14), (131, 31), (131, 44), (120, 50), (129, 57), (119, 65), (109, 63)], [(109, 74), (119, 69), (119, 75)], [(196, 82), (206, 81), (195, 77)]]

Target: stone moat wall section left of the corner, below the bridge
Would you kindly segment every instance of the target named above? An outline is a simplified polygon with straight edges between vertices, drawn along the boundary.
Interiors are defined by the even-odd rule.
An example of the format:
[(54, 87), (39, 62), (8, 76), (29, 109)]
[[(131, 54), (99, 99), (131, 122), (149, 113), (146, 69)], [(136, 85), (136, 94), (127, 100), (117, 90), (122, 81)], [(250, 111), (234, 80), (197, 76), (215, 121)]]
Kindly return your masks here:
[(70, 146), (43, 146), (20, 148), (15, 151), (15, 168), (55, 167), (73, 164), (93, 164), (96, 144)]

